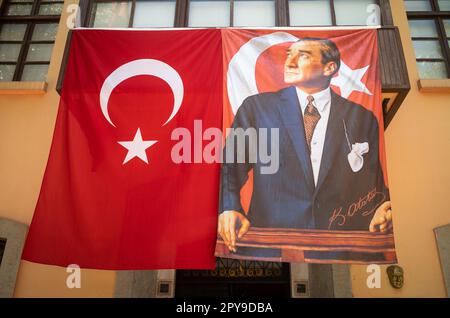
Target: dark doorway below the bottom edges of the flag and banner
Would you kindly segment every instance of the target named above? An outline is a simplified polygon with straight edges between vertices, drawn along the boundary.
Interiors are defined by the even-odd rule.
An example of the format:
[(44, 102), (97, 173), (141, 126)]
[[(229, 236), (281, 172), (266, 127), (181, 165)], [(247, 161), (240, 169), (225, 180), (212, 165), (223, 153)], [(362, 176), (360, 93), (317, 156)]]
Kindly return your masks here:
[(217, 258), (214, 270), (177, 270), (175, 297), (289, 298), (289, 264)]

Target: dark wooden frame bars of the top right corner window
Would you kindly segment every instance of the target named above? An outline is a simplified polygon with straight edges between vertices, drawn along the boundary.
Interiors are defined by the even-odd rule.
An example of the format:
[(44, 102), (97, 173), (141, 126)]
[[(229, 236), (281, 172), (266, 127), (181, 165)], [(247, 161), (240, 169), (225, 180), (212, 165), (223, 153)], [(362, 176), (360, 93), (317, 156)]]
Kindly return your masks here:
[[(438, 0), (428, 0), (431, 5), (431, 11), (406, 11), (406, 16), (408, 17), (408, 21), (417, 21), (417, 20), (425, 20), (425, 21), (433, 21), (436, 26), (437, 37), (413, 37), (411, 36), (411, 40), (413, 41), (436, 41), (438, 40), (441, 50), (442, 50), (442, 59), (439, 58), (417, 58), (416, 63), (418, 62), (444, 62), (445, 69), (447, 72), (447, 77), (450, 78), (450, 47), (448, 41), (450, 41), (450, 34), (447, 36), (445, 32), (444, 19), (450, 20), (450, 11), (441, 11), (439, 7)], [(420, 77), (420, 73), (419, 73)], [(421, 77), (422, 78), (422, 77)], [(443, 78), (443, 79), (445, 79)], [(425, 79), (425, 78), (424, 78)]]

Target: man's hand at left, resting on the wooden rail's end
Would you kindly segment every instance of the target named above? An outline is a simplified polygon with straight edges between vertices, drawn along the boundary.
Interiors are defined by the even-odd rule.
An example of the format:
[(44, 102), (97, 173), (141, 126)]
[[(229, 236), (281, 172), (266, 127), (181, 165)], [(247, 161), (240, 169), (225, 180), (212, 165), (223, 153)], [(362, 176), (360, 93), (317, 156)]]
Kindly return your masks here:
[[(237, 231), (238, 226), (239, 232)], [(237, 211), (225, 211), (219, 215), (219, 225), (217, 232), (222, 237), (225, 245), (232, 252), (236, 252), (236, 232), (240, 239), (247, 233), (250, 227), (250, 221)]]

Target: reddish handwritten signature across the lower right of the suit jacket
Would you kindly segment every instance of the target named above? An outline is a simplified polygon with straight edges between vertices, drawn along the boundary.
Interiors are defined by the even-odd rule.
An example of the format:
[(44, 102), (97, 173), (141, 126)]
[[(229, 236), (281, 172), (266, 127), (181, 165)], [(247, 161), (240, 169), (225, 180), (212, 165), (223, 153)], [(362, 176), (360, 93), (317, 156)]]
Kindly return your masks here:
[[(343, 207), (339, 207), (334, 209), (333, 214), (329, 219), (328, 229), (331, 229), (333, 223), (336, 222), (338, 226), (344, 226), (346, 222), (352, 218), (356, 213), (360, 213), (362, 216), (369, 216), (373, 214), (376, 208), (385, 201), (386, 196), (383, 192), (377, 192), (377, 189), (374, 188), (370, 190), (365, 196), (360, 197), (358, 201), (350, 204), (344, 213)], [(374, 202), (370, 206), (373, 206), (372, 209), (363, 211), (364, 207), (367, 204)], [(367, 207), (366, 207), (367, 208)]]

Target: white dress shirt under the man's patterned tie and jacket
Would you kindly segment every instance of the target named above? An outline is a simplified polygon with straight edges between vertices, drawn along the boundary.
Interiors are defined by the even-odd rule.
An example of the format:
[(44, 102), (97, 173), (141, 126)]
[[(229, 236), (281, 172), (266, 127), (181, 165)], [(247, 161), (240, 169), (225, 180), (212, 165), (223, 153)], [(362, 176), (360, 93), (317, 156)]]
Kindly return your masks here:
[(314, 129), (314, 133), (311, 138), (310, 157), (314, 174), (314, 184), (317, 185), (320, 162), (322, 161), (323, 145), (325, 143), (325, 134), (327, 132), (328, 117), (330, 116), (331, 92), (329, 87), (315, 94), (307, 94), (297, 87), (296, 90), (302, 114), (305, 114), (305, 109), (308, 105), (307, 97), (309, 95), (312, 95), (314, 97), (313, 104), (320, 114), (320, 119), (317, 122), (316, 128)]

